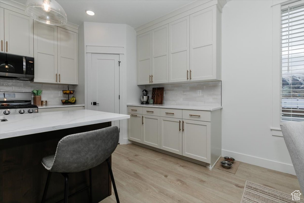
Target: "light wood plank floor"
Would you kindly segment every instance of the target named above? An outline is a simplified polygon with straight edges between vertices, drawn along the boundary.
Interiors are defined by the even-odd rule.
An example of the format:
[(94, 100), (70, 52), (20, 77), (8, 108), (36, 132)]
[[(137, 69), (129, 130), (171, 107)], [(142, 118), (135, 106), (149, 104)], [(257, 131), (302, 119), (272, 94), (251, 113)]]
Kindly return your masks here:
[[(134, 144), (118, 145), (112, 170), (120, 202), (240, 202), (245, 181), (278, 191), (299, 190), (294, 175), (240, 163), (236, 174)], [(116, 202), (114, 191), (103, 201)]]

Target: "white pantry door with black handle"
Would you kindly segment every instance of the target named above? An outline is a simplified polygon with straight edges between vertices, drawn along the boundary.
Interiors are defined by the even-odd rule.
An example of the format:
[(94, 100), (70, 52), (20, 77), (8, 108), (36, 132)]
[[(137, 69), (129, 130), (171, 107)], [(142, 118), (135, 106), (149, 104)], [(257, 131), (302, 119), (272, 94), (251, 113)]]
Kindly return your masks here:
[[(92, 54), (92, 110), (119, 114), (119, 54)], [(96, 102), (96, 105), (94, 105)], [(119, 121), (112, 122), (119, 127)]]

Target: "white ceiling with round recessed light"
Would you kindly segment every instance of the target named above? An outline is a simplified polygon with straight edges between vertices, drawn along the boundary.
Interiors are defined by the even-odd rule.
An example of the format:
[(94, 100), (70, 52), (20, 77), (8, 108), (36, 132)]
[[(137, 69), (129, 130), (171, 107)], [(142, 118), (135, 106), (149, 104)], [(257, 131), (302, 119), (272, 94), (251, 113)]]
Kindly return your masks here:
[[(26, 0), (15, 0), (25, 4)], [(67, 13), (67, 21), (77, 25), (83, 22), (121, 23), (133, 28), (164, 16), (195, 0), (57, 0)], [(93, 10), (89, 16), (85, 10)]]

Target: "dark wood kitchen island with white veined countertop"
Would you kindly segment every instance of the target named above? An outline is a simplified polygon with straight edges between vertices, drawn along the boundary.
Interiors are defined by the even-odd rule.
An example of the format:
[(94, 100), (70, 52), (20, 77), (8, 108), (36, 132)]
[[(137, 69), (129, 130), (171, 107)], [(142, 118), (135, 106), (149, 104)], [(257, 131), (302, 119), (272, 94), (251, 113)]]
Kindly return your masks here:
[[(57, 143), (66, 135), (106, 128), (111, 121), (129, 115), (92, 110), (57, 111), (6, 115), (0, 124), (0, 202), (40, 202), (48, 171), (44, 156), (54, 154)], [(115, 175), (115, 174), (114, 174)], [(71, 173), (69, 194), (89, 184), (88, 171)], [(111, 195), (111, 180), (106, 163), (92, 169), (93, 202)], [(63, 198), (64, 178), (52, 175), (47, 202)], [(69, 198), (69, 202), (87, 202), (89, 190)]]

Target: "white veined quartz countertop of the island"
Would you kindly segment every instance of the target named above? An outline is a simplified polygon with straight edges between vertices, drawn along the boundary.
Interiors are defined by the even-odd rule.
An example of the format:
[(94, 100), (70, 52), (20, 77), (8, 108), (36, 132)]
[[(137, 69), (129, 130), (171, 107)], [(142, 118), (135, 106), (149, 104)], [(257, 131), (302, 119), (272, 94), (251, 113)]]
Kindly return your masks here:
[(16, 114), (4, 117), (8, 121), (0, 122), (0, 139), (130, 118), (125, 114), (93, 110)]

